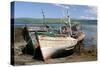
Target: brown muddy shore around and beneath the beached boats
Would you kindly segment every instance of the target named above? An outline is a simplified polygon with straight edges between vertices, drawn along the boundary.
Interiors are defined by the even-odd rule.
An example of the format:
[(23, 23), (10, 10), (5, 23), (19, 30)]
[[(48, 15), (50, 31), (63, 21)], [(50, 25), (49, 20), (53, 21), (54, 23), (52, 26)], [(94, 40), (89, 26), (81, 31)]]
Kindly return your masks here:
[[(23, 54), (22, 49), (26, 46), (26, 42), (22, 37), (22, 29), (15, 29), (14, 33), (14, 65), (38, 65), (46, 64), (42, 60), (33, 59), (32, 55)], [(83, 44), (82, 44), (83, 45)], [(74, 52), (66, 55), (67, 51), (61, 52), (60, 57), (50, 58), (47, 60), (48, 64), (66, 63), (66, 62), (84, 62), (97, 60), (97, 46), (90, 44), (88, 46), (81, 46), (80, 51), (76, 48)]]

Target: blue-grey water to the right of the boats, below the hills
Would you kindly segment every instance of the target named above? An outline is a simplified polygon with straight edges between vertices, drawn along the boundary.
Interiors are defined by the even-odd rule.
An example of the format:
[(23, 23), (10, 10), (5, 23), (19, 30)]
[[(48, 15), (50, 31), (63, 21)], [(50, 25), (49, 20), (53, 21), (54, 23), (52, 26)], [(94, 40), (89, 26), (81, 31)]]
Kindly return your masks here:
[(84, 31), (86, 35), (83, 43), (85, 45), (97, 45), (97, 25), (83, 25), (82, 27), (82, 31)]

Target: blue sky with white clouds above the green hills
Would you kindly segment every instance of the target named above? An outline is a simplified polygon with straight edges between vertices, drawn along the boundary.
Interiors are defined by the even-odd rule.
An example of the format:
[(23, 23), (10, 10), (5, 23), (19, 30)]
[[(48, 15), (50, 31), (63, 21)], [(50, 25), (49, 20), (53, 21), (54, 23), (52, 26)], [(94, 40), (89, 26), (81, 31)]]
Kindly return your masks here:
[(97, 19), (97, 7), (54, 3), (14, 2), (14, 18), (63, 18), (67, 10), (71, 18)]

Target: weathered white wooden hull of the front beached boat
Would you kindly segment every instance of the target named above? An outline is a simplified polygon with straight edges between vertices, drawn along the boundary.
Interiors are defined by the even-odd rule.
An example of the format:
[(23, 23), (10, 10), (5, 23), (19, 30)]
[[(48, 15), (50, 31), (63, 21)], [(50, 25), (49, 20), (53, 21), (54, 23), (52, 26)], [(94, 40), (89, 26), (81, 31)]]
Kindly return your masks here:
[(44, 59), (50, 58), (60, 49), (71, 50), (77, 44), (77, 39), (72, 37), (38, 36), (39, 45)]

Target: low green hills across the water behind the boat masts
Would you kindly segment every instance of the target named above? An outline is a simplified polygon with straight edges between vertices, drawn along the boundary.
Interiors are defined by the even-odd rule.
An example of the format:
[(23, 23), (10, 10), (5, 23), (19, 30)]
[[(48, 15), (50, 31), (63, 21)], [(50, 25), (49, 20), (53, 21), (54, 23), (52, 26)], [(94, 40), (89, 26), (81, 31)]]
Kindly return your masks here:
[[(16, 18), (14, 19), (15, 23), (43, 23), (41, 18)], [(60, 18), (46, 18), (46, 23), (64, 23), (64, 19)], [(72, 23), (80, 24), (97, 24), (97, 20), (82, 20), (82, 19), (71, 19)]]

